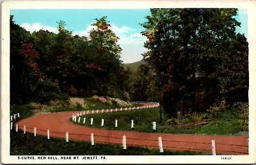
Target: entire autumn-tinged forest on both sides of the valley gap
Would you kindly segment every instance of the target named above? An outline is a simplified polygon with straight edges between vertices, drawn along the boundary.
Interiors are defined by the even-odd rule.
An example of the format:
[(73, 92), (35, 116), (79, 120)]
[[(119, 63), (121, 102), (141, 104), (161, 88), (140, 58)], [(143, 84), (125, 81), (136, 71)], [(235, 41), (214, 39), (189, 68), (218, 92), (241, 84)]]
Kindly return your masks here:
[[(151, 9), (141, 26), (147, 37), (134, 73), (108, 17), (95, 18), (90, 37), (29, 33), (10, 16), (10, 102), (26, 104), (69, 97), (109, 96), (156, 101), (170, 117), (200, 113), (218, 104), (248, 103), (248, 42), (236, 32), (234, 8)], [(161, 113), (160, 113), (161, 114)]]

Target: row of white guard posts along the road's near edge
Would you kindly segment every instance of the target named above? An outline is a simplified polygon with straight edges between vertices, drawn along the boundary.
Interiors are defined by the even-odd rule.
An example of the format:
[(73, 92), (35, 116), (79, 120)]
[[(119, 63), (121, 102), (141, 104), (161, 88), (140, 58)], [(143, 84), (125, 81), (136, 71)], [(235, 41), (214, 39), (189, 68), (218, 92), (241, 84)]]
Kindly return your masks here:
[[(12, 129), (12, 127), (11, 127), (11, 129)], [(18, 132), (18, 124), (16, 124), (15, 131)], [(23, 131), (24, 131), (23, 133), (26, 134), (26, 126), (24, 126)], [(36, 136), (36, 127), (34, 128), (34, 136)], [(50, 139), (49, 129), (47, 129), (47, 139), (48, 140)], [(66, 140), (66, 142), (68, 142), (68, 132), (65, 133), (65, 140)], [(92, 145), (94, 145), (93, 133), (91, 134), (91, 143), (92, 143)], [(123, 145), (123, 148), (125, 150), (127, 148), (127, 146), (126, 146), (126, 136), (123, 136), (122, 145)], [(158, 138), (158, 146), (159, 146), (159, 152), (164, 152), (162, 137)], [(216, 148), (215, 148), (215, 141), (214, 140), (211, 141), (211, 148), (212, 148), (212, 155), (216, 155)]]

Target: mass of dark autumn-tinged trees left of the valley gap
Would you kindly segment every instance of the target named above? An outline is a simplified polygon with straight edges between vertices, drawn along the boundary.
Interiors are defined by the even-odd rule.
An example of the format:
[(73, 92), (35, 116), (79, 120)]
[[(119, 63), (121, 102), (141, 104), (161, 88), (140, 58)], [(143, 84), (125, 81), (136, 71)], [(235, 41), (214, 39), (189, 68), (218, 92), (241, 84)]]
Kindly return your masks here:
[(90, 38), (74, 36), (64, 21), (57, 23), (57, 34), (42, 29), (31, 34), (10, 17), (11, 103), (124, 97), (129, 73), (106, 17), (95, 19)]

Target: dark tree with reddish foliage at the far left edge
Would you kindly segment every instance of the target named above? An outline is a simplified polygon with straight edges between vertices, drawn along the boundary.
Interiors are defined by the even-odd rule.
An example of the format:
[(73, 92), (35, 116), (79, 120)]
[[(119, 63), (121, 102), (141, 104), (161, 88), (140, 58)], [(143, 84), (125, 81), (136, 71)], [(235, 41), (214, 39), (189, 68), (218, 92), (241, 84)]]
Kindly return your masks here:
[[(36, 43), (35, 36), (15, 24), (10, 17), (10, 98), (11, 104), (29, 101), (45, 102), (63, 99), (58, 82), (53, 82), (42, 72), (44, 50)], [(46, 47), (46, 45), (45, 45)], [(67, 98), (67, 97), (65, 97)]]

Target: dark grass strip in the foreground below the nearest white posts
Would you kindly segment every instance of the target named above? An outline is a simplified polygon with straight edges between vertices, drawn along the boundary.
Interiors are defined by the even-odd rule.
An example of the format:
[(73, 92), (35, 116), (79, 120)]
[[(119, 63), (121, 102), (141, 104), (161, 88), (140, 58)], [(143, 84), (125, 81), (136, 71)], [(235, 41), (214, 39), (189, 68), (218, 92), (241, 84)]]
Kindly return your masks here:
[[(204, 155), (200, 152), (159, 150), (142, 147), (127, 147), (122, 145), (107, 145), (84, 141), (50, 138), (45, 136), (33, 136), (31, 133), (23, 134), (22, 131), (10, 133), (10, 155)], [(111, 152), (110, 152), (111, 151)]]

